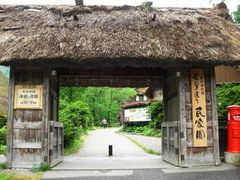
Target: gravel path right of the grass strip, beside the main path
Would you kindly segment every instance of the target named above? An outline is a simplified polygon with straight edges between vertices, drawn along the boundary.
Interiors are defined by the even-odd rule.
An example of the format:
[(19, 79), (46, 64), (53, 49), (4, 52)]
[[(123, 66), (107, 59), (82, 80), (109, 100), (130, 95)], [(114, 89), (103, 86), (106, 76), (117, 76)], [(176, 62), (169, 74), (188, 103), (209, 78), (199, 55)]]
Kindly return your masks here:
[(147, 149), (151, 149), (155, 152), (161, 153), (162, 151), (162, 139), (157, 137), (148, 137), (142, 135), (123, 133), (130, 139), (137, 141), (139, 144), (143, 145)]

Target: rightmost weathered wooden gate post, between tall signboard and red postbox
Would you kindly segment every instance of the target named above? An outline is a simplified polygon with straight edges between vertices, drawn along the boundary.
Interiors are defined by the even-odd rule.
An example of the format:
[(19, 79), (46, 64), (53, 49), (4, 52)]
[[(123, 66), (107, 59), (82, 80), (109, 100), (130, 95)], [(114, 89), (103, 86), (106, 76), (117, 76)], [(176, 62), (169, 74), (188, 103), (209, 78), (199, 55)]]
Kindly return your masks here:
[(211, 76), (211, 99), (212, 99), (212, 120), (213, 120), (213, 156), (215, 165), (220, 165), (219, 154), (219, 131), (218, 131), (218, 115), (217, 115), (217, 97), (216, 97), (216, 79), (214, 68), (210, 69)]

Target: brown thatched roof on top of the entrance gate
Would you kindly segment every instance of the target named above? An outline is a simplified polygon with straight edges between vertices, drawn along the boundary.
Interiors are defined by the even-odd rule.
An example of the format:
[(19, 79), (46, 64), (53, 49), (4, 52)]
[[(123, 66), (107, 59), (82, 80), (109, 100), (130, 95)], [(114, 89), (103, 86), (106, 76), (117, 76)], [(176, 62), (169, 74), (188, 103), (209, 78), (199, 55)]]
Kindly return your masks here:
[[(240, 64), (225, 7), (0, 6), (0, 64)], [(125, 64), (127, 66), (127, 64)]]

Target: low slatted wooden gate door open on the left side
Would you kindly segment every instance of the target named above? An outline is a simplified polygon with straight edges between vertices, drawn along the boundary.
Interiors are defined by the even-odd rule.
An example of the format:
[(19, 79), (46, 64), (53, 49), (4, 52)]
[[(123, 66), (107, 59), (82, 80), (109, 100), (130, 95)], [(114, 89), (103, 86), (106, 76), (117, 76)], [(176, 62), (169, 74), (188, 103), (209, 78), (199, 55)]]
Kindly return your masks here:
[(64, 132), (63, 123), (49, 122), (49, 162), (50, 166), (63, 161), (64, 156)]

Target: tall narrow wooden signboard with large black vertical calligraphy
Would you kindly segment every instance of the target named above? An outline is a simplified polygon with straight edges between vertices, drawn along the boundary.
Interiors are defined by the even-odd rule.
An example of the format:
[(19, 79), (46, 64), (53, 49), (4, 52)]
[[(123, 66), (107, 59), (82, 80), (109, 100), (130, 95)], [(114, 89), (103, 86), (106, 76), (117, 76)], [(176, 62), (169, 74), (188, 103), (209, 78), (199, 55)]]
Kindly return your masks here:
[(191, 69), (193, 146), (207, 147), (204, 69)]

